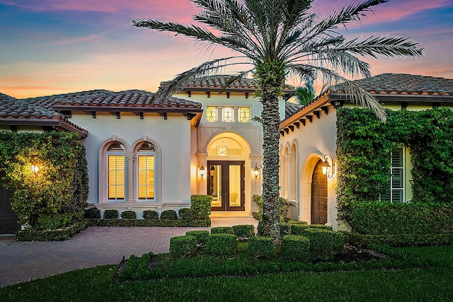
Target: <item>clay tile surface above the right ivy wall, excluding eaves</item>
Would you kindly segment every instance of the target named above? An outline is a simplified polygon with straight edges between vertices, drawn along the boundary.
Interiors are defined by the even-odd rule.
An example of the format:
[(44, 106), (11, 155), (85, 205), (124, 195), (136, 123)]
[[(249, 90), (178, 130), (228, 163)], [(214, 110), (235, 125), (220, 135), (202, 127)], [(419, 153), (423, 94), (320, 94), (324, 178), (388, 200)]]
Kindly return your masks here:
[[(379, 74), (354, 81), (373, 94), (453, 95), (453, 79), (412, 74)], [(341, 84), (331, 87), (343, 92)]]

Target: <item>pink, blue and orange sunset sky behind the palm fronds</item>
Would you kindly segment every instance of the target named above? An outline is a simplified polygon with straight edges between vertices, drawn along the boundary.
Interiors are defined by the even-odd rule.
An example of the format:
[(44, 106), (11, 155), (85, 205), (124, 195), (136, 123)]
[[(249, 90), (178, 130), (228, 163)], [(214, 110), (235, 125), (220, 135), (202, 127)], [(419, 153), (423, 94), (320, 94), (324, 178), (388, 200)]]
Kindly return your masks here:
[[(315, 1), (323, 13), (345, 3), (350, 1)], [(193, 11), (188, 0), (0, 0), (0, 93), (26, 98), (92, 89), (156, 91), (161, 81), (229, 52), (188, 48), (187, 38), (132, 28), (130, 20), (190, 23)], [(427, 52), (421, 59), (370, 59), (373, 75), (453, 79), (452, 0), (392, 0), (373, 11), (348, 34), (411, 37)]]

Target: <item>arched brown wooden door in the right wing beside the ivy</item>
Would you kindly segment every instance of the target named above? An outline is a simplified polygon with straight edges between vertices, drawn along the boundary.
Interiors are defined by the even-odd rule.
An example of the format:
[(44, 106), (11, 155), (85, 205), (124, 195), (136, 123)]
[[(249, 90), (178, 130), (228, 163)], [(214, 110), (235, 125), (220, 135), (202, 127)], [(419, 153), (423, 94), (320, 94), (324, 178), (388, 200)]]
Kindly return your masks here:
[(311, 224), (327, 223), (327, 178), (319, 160), (311, 178)]

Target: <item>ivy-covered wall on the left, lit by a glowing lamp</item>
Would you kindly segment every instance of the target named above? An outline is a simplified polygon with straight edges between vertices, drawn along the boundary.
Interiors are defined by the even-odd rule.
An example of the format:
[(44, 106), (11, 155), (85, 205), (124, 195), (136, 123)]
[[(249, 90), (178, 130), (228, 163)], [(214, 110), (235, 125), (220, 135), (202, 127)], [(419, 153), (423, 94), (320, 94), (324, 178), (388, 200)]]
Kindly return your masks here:
[[(31, 165), (38, 165), (33, 173)], [(19, 223), (55, 229), (81, 219), (88, 198), (86, 150), (78, 134), (0, 132), (0, 169)]]

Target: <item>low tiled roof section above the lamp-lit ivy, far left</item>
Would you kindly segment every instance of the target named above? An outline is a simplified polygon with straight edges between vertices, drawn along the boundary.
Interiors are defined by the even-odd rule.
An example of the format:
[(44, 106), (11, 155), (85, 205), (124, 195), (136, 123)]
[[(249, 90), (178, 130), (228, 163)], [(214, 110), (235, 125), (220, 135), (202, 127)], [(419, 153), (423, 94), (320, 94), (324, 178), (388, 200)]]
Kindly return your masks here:
[(86, 137), (88, 132), (59, 112), (55, 112), (39, 103), (28, 103), (0, 93), (0, 124), (9, 126), (28, 125), (40, 127), (56, 127)]

